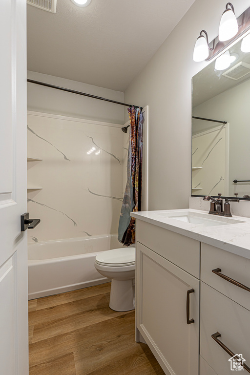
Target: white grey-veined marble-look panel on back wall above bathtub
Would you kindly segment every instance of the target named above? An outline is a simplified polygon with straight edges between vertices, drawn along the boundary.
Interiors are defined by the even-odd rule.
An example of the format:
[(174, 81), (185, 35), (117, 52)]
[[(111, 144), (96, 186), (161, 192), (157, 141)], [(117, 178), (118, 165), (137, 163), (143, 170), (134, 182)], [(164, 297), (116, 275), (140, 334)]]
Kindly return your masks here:
[[(28, 113), (29, 241), (117, 233), (123, 200), (121, 125)], [(42, 187), (42, 189), (35, 189)]]

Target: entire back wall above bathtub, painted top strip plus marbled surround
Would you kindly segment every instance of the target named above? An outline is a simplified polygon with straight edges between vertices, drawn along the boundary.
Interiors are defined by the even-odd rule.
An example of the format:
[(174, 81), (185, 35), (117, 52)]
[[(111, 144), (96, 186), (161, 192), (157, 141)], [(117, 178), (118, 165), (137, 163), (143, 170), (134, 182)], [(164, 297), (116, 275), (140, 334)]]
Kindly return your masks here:
[[(31, 71), (27, 77), (124, 102), (120, 91)], [(42, 187), (27, 194), (29, 216), (41, 218), (29, 242), (117, 233), (124, 107), (33, 83), (27, 106), (28, 157), (42, 159), (27, 163), (29, 187)], [(100, 153), (87, 154), (92, 147)]]

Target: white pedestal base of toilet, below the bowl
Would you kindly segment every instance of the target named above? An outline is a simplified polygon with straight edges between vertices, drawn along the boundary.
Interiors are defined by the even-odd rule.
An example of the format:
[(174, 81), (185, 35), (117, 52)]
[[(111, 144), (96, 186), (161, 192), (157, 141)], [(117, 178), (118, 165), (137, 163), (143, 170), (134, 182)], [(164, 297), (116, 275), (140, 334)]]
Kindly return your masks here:
[(129, 311), (135, 309), (134, 279), (112, 279), (109, 307), (115, 311)]

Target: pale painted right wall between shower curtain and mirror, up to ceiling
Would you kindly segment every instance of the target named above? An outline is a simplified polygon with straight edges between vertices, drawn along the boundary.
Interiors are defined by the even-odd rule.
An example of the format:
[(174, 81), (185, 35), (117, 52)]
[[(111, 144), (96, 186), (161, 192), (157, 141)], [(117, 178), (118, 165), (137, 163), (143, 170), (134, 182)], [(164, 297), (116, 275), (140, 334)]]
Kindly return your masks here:
[[(236, 17), (249, 5), (238, 0)], [(191, 78), (207, 64), (193, 62), (193, 47), (202, 29), (209, 42), (218, 35), (225, 6), (224, 0), (196, 0), (125, 91), (126, 103), (149, 105), (149, 209), (188, 207)]]

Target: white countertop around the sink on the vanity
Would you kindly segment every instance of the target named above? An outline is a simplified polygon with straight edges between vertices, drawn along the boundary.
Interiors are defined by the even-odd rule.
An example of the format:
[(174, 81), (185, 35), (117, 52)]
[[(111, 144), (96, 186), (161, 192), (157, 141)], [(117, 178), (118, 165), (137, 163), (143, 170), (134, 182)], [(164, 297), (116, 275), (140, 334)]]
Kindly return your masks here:
[[(162, 213), (183, 213), (184, 211), (190, 213), (206, 213), (202, 210), (187, 208), (131, 212), (131, 216), (250, 259), (250, 218), (232, 216), (232, 218), (227, 218), (228, 222), (230, 222), (230, 219), (234, 219), (243, 221), (243, 223), (205, 227), (202, 224), (190, 224), (173, 218), (160, 216)], [(208, 215), (208, 217), (209, 219), (215, 218), (216, 220), (216, 218), (220, 218), (221, 216)]]

